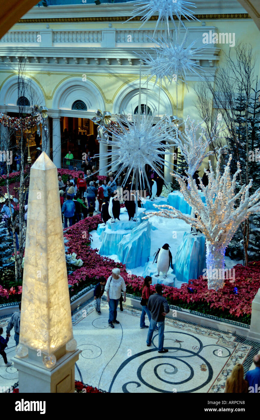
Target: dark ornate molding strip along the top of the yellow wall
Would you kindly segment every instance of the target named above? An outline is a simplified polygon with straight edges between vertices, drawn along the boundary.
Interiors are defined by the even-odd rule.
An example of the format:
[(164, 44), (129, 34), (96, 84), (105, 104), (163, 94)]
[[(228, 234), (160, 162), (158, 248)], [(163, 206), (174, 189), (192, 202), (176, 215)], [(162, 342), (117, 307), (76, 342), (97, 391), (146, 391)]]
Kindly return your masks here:
[[(204, 15), (194, 15), (198, 20), (206, 19), (251, 19), (248, 13), (214, 13), (214, 14), (204, 14)], [(136, 16), (136, 18), (131, 19), (131, 16), (95, 16), (95, 17), (81, 17), (81, 18), (31, 18), (31, 19), (20, 19), (17, 23), (26, 24), (26, 23), (59, 23), (59, 22), (108, 22), (108, 21), (126, 21), (131, 19), (131, 21), (140, 21), (142, 16)], [(178, 20), (177, 16), (173, 16), (175, 20)], [(182, 16), (184, 19), (184, 17)], [(151, 16), (149, 21), (157, 21), (158, 16)]]

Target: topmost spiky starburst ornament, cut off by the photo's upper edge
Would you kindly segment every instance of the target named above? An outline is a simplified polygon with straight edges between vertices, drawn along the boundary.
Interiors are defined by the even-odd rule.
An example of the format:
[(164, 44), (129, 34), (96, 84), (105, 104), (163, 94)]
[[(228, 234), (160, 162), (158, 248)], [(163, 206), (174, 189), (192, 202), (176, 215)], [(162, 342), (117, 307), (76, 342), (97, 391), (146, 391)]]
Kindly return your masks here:
[[(129, 3), (135, 3), (136, 2), (129, 2)], [(175, 26), (175, 21), (173, 16), (177, 16), (178, 20), (183, 24), (181, 21), (181, 16), (183, 16), (185, 19), (190, 21), (190, 19), (198, 21), (198, 19), (193, 15), (193, 11), (190, 9), (190, 7), (195, 8), (195, 4), (191, 3), (189, 1), (185, 0), (141, 0), (139, 1), (140, 7), (135, 9), (133, 11), (134, 16), (129, 18), (126, 22), (130, 21), (131, 19), (136, 18), (136, 16), (143, 15), (140, 19), (143, 23), (140, 26), (142, 26), (149, 21), (151, 16), (158, 15), (158, 19), (156, 22), (156, 26), (154, 29), (154, 33), (157, 29), (157, 26), (161, 22), (165, 23), (165, 27), (169, 31), (169, 19), (172, 21), (172, 23)], [(183, 24), (184, 26), (184, 24)]]

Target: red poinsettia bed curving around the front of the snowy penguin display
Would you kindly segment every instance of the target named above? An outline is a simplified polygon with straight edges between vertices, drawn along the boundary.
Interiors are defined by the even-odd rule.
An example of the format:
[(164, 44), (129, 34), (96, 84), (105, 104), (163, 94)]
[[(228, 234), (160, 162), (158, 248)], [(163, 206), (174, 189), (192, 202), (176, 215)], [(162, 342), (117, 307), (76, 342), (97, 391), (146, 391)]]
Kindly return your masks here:
[[(143, 277), (130, 276), (124, 264), (102, 257), (97, 249), (90, 247), (89, 232), (97, 229), (99, 223), (102, 223), (100, 215), (95, 215), (80, 220), (64, 232), (69, 252), (75, 252), (77, 258), (83, 262), (82, 267), (68, 276), (68, 283), (73, 286), (71, 295), (77, 294), (89, 284), (97, 283), (100, 276), (108, 278), (111, 270), (118, 267), (126, 282), (128, 293), (141, 296)], [(227, 281), (219, 291), (208, 290), (207, 280), (200, 276), (189, 283), (183, 283), (180, 289), (165, 286), (164, 295), (172, 305), (249, 324), (252, 300), (260, 287), (260, 262), (250, 262), (248, 267), (238, 264), (235, 266), (235, 273), (234, 283)], [(151, 289), (154, 290), (154, 286), (151, 286)], [(17, 291), (0, 288), (0, 296), (6, 299), (8, 293), (9, 296), (20, 294), (21, 286)]]

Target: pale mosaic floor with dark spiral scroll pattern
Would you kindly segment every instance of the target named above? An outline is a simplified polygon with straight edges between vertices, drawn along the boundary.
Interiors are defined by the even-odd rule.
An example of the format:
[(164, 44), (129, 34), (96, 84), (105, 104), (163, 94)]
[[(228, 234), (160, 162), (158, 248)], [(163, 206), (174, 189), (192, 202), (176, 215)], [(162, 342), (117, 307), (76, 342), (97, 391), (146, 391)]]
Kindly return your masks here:
[[(138, 309), (124, 306), (124, 312), (118, 311), (120, 324), (113, 329), (108, 326), (106, 301), (101, 302), (101, 312), (95, 312), (92, 300), (73, 313), (74, 336), (82, 350), (75, 379), (113, 393), (221, 393), (234, 365), (247, 358), (244, 365), (249, 367), (260, 347), (231, 333), (166, 318), (164, 346), (169, 352), (160, 354), (157, 331), (152, 346), (146, 345), (147, 329), (139, 328)], [(3, 327), (7, 322), (8, 317), (0, 319)], [(15, 349), (12, 338), (9, 343), (8, 360)], [(6, 368), (1, 359), (0, 386), (17, 380), (18, 372)]]

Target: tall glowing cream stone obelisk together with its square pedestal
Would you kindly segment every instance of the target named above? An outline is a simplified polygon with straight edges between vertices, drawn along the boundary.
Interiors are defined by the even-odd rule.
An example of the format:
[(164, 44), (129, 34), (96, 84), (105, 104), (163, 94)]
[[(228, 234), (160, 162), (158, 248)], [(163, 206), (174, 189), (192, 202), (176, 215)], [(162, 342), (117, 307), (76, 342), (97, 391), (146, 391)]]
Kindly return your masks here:
[(72, 340), (57, 168), (42, 152), (30, 173), (20, 340), (13, 358), (19, 391), (74, 392), (80, 351)]

